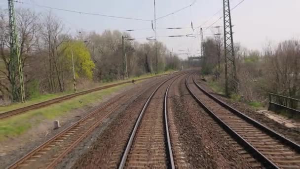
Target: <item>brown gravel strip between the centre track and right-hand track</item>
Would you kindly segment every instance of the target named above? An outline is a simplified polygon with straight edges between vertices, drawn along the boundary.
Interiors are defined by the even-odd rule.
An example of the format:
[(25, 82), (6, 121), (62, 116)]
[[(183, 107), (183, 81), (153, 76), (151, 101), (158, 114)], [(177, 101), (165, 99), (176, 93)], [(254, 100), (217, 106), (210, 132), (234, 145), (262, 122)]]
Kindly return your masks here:
[(171, 87), (170, 103), (188, 168), (247, 169), (257, 165), (197, 104), (188, 93), (185, 78), (179, 78)]

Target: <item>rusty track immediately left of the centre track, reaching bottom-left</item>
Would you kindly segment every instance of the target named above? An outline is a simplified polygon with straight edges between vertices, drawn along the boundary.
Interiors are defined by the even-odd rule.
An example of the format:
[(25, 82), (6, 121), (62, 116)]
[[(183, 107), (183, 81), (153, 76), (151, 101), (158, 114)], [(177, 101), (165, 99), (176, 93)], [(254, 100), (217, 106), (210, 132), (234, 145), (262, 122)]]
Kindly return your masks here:
[[(147, 85), (151, 86), (156, 84), (157, 82), (150, 82)], [(98, 127), (114, 111), (120, 108), (124, 102), (130, 99), (132, 97), (132, 95), (129, 94), (130, 92), (131, 90), (116, 96), (101, 108), (91, 112), (72, 126), (64, 129), (59, 134), (26, 154), (10, 165), (8, 169), (54, 168), (81, 140), (91, 133), (94, 128)]]

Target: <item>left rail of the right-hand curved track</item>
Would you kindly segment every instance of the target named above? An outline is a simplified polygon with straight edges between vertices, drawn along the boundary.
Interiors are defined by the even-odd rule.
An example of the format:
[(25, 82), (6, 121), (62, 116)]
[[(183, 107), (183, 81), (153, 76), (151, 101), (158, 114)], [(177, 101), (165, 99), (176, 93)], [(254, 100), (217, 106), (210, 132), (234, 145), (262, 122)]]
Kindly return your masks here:
[[(190, 75), (189, 75), (190, 76)], [(188, 76), (188, 77), (189, 77)], [(273, 162), (268, 160), (261, 152), (259, 152), (256, 148), (254, 148), (248, 141), (246, 141), (241, 135), (235, 132), (231, 127), (225, 124), (223, 120), (221, 120), (213, 111), (211, 111), (206, 105), (204, 105), (200, 99), (191, 91), (188, 85), (188, 77), (186, 78), (186, 86), (188, 88), (188, 92), (195, 99), (195, 101), (206, 111), (209, 115), (227, 131), (240, 145), (242, 145), (245, 150), (250, 152), (254, 158), (260, 161), (264, 166), (272, 169), (279, 169)], [(195, 82), (194, 82), (195, 83)]]

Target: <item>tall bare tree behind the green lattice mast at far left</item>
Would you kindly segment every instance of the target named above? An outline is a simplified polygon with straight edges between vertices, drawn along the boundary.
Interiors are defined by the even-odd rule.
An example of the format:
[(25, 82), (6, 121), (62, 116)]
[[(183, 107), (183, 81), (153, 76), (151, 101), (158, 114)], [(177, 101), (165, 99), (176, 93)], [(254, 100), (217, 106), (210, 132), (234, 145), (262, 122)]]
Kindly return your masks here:
[[(19, 34), (20, 54), (22, 59), (22, 66), (25, 73), (25, 85), (30, 81), (30, 77), (26, 76), (29, 72), (26, 71), (26, 65), (29, 66), (28, 58), (31, 53), (36, 49), (38, 42), (38, 30), (40, 29), (38, 15), (35, 12), (26, 9), (18, 9), (16, 15), (17, 31)], [(1, 76), (4, 77), (0, 82), (2, 90), (5, 89), (10, 93), (10, 84), (12, 79), (9, 70), (10, 64), (10, 40), (9, 40), (9, 27), (6, 11), (0, 11), (0, 57), (1, 62), (4, 63), (5, 69), (0, 69)], [(25, 69), (24, 69), (25, 68)], [(17, 76), (17, 74), (16, 74)], [(4, 91), (2, 91), (3, 93)]]

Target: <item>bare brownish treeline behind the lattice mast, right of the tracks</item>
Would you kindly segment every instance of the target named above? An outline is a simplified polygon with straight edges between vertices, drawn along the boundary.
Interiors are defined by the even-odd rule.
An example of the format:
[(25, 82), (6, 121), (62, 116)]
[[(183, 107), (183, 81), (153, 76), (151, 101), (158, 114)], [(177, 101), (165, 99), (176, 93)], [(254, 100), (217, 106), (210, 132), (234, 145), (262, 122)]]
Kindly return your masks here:
[[(246, 102), (267, 100), (273, 92), (300, 98), (300, 41), (287, 40), (277, 46), (266, 45), (263, 52), (249, 50), (236, 43), (235, 56), (239, 82), (239, 99)], [(202, 73), (213, 75), (213, 83), (225, 86), (224, 39), (205, 40)]]

